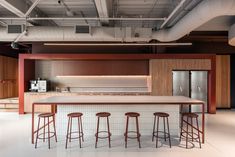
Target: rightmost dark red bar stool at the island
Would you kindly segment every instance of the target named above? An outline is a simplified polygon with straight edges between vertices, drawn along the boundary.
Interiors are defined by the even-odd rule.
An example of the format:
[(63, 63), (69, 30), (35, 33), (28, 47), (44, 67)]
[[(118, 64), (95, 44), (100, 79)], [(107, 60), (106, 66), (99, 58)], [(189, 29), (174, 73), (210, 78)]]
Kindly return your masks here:
[[(186, 120), (184, 118), (186, 118)], [(194, 121), (196, 121), (196, 126), (194, 126), (194, 124), (193, 124)], [(184, 128), (184, 124), (186, 125), (186, 130)], [(189, 130), (189, 127), (191, 128), (191, 130)], [(186, 138), (186, 148), (187, 149), (188, 149), (189, 140), (191, 140), (192, 142), (194, 142), (194, 141), (198, 142), (199, 147), (201, 148), (200, 130), (199, 130), (199, 125), (198, 125), (198, 114), (191, 113), (191, 112), (182, 113), (180, 141), (181, 141), (182, 137)]]

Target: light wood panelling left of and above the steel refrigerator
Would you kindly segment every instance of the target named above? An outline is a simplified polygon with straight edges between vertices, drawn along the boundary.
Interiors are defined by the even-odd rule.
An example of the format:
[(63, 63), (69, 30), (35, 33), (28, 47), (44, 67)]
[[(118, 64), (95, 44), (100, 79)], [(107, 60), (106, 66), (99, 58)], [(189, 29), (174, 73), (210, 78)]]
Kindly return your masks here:
[(152, 59), (152, 95), (172, 95), (173, 70), (211, 70), (209, 59)]

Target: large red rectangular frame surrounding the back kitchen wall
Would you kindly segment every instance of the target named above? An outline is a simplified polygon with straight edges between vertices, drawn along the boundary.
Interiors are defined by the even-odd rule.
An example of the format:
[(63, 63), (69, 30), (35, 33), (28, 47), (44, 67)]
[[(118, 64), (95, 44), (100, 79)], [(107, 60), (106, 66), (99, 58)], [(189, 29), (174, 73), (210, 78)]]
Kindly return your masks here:
[[(19, 114), (24, 114), (26, 82), (33, 79), (34, 60), (143, 60), (143, 59), (210, 59), (209, 113), (216, 113), (216, 55), (211, 54), (20, 54)], [(27, 71), (27, 72), (26, 72)]]

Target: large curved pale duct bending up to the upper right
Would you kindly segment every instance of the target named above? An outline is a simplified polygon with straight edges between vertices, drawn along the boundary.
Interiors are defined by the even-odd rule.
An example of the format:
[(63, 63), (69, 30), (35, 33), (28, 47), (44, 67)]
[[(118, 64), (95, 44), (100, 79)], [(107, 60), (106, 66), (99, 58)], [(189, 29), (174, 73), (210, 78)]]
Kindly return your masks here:
[(152, 38), (161, 42), (175, 41), (218, 16), (235, 15), (235, 0), (203, 0), (172, 28), (156, 31)]

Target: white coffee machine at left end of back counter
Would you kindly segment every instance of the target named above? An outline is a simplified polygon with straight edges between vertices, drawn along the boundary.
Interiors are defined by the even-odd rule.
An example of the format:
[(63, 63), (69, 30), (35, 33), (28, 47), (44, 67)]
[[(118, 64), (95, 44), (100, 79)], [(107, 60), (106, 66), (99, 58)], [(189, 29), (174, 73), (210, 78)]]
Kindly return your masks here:
[(41, 80), (40, 78), (37, 80), (30, 80), (30, 91), (31, 92), (47, 92), (48, 81)]

